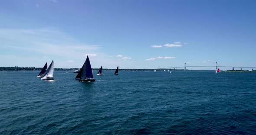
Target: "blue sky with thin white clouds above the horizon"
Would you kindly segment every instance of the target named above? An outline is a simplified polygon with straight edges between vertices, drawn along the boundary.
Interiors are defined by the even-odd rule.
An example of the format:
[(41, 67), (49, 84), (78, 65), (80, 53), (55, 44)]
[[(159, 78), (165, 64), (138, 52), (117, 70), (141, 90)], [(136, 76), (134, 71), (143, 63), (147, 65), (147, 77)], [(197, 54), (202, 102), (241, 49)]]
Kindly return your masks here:
[(256, 67), (255, 9), (255, 0), (1, 0), (0, 67), (79, 68), (86, 55), (92, 68)]

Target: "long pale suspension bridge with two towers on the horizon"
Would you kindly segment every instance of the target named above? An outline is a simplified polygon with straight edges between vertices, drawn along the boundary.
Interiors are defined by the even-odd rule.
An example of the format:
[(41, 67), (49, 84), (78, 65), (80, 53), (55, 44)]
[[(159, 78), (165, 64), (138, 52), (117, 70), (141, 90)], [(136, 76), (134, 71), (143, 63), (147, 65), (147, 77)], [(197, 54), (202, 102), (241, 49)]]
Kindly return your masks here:
[(235, 68), (239, 68), (241, 70), (243, 70), (243, 68), (249, 68), (253, 71), (253, 68), (256, 69), (256, 67), (243, 67), (243, 66), (218, 66), (217, 62), (215, 64), (215, 66), (187, 66), (187, 64), (185, 63), (184, 64), (184, 67), (165, 67), (165, 68), (158, 68), (158, 69), (161, 69), (161, 70), (165, 70), (165, 69), (173, 69), (174, 71), (178, 68), (184, 68), (184, 71), (187, 71), (187, 67), (215, 67), (215, 70), (217, 70), (218, 67), (230, 67), (232, 68), (232, 70), (235, 70)]

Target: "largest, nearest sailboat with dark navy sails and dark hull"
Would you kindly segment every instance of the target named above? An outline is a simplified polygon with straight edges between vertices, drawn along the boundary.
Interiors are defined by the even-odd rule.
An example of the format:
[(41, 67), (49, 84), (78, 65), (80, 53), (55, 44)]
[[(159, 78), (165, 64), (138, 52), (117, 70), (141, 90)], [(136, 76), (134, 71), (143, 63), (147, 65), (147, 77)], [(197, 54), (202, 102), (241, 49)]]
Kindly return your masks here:
[(95, 81), (92, 76), (92, 67), (90, 64), (89, 57), (87, 56), (85, 63), (83, 64), (82, 68), (80, 69), (79, 73), (75, 77), (75, 80), (79, 80), (79, 82), (91, 82)]

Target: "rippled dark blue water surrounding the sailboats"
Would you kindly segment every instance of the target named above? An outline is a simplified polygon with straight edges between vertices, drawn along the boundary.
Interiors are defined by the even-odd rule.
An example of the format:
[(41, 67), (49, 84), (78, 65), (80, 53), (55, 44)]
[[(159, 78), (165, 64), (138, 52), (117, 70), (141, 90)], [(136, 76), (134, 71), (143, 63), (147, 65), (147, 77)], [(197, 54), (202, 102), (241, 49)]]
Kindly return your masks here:
[(0, 134), (256, 134), (256, 73), (69, 72), (0, 72)]

